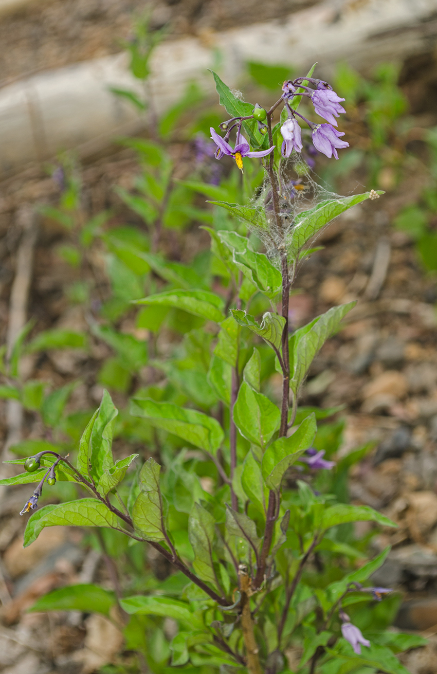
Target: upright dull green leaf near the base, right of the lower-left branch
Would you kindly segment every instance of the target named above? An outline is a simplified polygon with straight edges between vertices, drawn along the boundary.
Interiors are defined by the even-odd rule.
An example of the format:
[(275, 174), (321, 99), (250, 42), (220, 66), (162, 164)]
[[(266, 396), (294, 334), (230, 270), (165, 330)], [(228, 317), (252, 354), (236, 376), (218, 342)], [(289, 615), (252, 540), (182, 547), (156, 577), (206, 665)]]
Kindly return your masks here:
[(217, 588), (218, 582), (212, 561), (214, 529), (214, 517), (208, 510), (202, 508), (202, 505), (194, 503), (188, 518), (188, 539), (194, 550), (193, 568), (201, 580)]

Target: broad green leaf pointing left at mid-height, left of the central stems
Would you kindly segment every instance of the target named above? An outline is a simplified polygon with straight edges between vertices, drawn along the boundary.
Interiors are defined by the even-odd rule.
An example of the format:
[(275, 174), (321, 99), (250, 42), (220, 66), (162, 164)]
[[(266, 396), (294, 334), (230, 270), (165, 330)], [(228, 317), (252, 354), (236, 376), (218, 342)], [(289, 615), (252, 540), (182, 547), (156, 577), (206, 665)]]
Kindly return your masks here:
[(216, 419), (171, 402), (133, 398), (131, 414), (148, 419), (153, 426), (174, 433), (210, 454), (215, 454), (223, 442), (223, 429)]

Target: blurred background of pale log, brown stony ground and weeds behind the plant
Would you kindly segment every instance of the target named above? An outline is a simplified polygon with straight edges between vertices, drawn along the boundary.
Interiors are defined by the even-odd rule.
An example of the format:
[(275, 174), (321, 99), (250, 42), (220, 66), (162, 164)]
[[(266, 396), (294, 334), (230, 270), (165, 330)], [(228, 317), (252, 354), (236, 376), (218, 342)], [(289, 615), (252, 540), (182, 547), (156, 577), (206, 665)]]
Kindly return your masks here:
[[(202, 408), (181, 360), (161, 379), (150, 367), (198, 324), (129, 300), (146, 294), (150, 265), (136, 251), (156, 252), (156, 212), (171, 261), (200, 278), (221, 274), (199, 229), (215, 217), (209, 195), (187, 182), (230, 193), (239, 180), (208, 142), (209, 127), (226, 119), (208, 68), (268, 106), (285, 79), (317, 61), (315, 75), (345, 97), (339, 128), (351, 147), (337, 162), (311, 157), (312, 178), (334, 193), (386, 193), (338, 218), (301, 266), (294, 327), (358, 300), (316, 359), (303, 404), (345, 406), (327, 427), (328, 453), (341, 460), (361, 448), (349, 498), (399, 523), (376, 537), (367, 523), (355, 532), (374, 551), (393, 546), (374, 578), (399, 590), (382, 623), (430, 636), (404, 662), (435, 674), (437, 0), (0, 0), (0, 58), (0, 343), (21, 387), (16, 399), (10, 380), (0, 382), (3, 460), (41, 443), (74, 448), (104, 387), (121, 408), (119, 456), (144, 454), (150, 441), (127, 414), (133, 391), (166, 381)], [(159, 171), (172, 181), (165, 200)], [(169, 280), (156, 260), (152, 269)], [(278, 386), (272, 375), (273, 398)], [(70, 486), (58, 483), (47, 498), (76, 497)], [(53, 527), (22, 549), (18, 512), (29, 493), (1, 487), (0, 672), (149, 671), (100, 613), (27, 612), (65, 584), (114, 586), (91, 534)], [(115, 539), (106, 545), (144, 589), (144, 560)], [(146, 566), (155, 580), (168, 574), (151, 555)], [(150, 646), (153, 671), (168, 659), (166, 630)]]

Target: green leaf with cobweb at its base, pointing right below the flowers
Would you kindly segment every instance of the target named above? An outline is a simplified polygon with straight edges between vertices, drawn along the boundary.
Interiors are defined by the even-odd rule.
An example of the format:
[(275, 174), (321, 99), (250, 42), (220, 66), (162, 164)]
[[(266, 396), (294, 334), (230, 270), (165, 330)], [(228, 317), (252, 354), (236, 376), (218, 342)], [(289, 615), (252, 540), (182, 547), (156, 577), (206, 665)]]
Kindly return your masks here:
[[(384, 194), (383, 191), (378, 190), (378, 194)], [(299, 252), (320, 230), (341, 213), (361, 204), (370, 197), (370, 192), (363, 194), (355, 194), (351, 197), (341, 197), (340, 199), (330, 199), (320, 202), (314, 208), (308, 211), (303, 211), (295, 218), (295, 225), (289, 240), (289, 255), (293, 259), (299, 256)]]

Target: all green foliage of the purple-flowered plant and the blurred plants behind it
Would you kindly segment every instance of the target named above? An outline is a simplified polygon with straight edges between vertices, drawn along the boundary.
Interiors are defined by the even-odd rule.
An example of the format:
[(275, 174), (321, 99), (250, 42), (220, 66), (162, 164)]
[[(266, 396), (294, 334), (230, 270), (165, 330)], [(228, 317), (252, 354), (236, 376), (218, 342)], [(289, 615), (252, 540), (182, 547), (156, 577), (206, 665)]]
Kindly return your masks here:
[[(161, 32), (148, 30), (147, 21), (138, 21), (127, 51), (141, 86), (113, 90), (140, 113), (148, 106), (142, 92), (148, 88), (152, 49), (161, 38)], [(264, 88), (279, 84), (281, 96), (288, 68), (250, 63), (249, 71)], [(213, 75), (228, 115), (250, 117), (242, 120), (242, 130), (251, 149), (267, 148), (268, 134), (252, 119), (254, 105)], [(395, 123), (403, 109), (394, 71), (376, 73), (375, 94), (346, 67), (339, 78), (356, 101), (366, 95), (372, 102), (368, 125), (378, 146), (390, 134), (387, 121)], [(309, 468), (311, 448), (336, 461), (343, 422), (328, 420), (341, 407), (298, 405), (314, 358), (354, 303), (332, 307), (290, 334), (283, 276), (287, 269), (293, 284), (295, 262), (314, 250), (310, 246), (322, 228), (370, 192), (315, 198), (307, 210), (290, 210), (291, 220), (282, 212), (288, 208), (283, 195), (279, 214), (269, 202), (272, 189), (284, 184), (283, 176), (276, 175), (273, 185), (270, 181), (277, 156), (271, 166), (268, 158), (263, 166), (247, 159), (243, 179), (235, 168), (218, 185), (208, 182), (211, 157), (206, 167), (182, 173), (169, 142), (186, 139), (196, 127), (201, 98), (190, 86), (167, 115), (152, 119), (153, 140), (121, 140), (136, 151), (140, 164), (132, 189), (115, 189), (117, 208), (129, 209), (134, 224), (119, 226), (118, 212), (117, 222), (109, 212), (89, 216), (78, 171), (65, 158), (65, 191), (57, 206), (42, 209), (65, 231), (58, 251), (86, 291), (89, 329), (35, 330), (28, 338), (34, 330), (29, 324), (10, 357), (3, 349), (0, 398), (20, 401), (40, 419), (42, 437), (50, 441), (24, 440), (12, 448), (19, 457), (12, 463), (25, 472), (0, 484), (38, 483), (25, 514), (39, 497), (50, 499), (28, 518), (25, 546), (46, 526), (91, 528), (89, 540), (113, 558), (121, 598), (80, 584), (54, 590), (32, 610), (96, 611), (112, 619), (119, 603), (130, 616), (125, 647), (140, 653), (154, 674), (170, 674), (174, 667), (190, 674), (264, 669), (289, 674), (281, 663), (290, 647), (301, 648), (301, 674), (310, 669), (314, 674), (401, 674), (405, 669), (395, 654), (423, 641), (386, 631), (396, 597), (375, 606), (372, 593), (361, 592), (388, 550), (369, 558), (366, 542), (355, 540), (351, 526), (368, 521), (375, 532), (378, 526), (395, 526), (372, 508), (348, 502), (348, 470), (370, 448), (343, 456), (332, 470)], [(291, 102), (293, 109), (299, 100)], [(268, 113), (260, 117), (270, 124)], [(276, 148), (280, 126), (272, 129)], [(355, 165), (357, 156), (345, 160), (342, 170), (347, 161)], [(200, 195), (209, 200), (202, 208)], [(429, 211), (437, 210), (431, 193), (424, 202)], [(417, 238), (425, 260), (433, 244), (425, 238), (432, 233), (423, 210), (415, 212), (416, 220), (410, 210), (398, 225)], [(189, 259), (181, 233), (194, 222), (206, 223), (210, 251), (202, 249), (199, 238), (199, 252)], [(94, 268), (96, 251), (105, 268)], [(84, 269), (98, 282), (82, 278)], [(71, 297), (71, 286), (64, 291)], [(119, 410), (105, 390), (94, 414), (70, 413), (69, 396), (79, 381), (53, 388), (49, 381), (20, 376), (20, 359), (27, 353), (61, 348), (94, 353), (95, 345), (110, 354), (96, 367), (96, 377), (117, 392)], [(272, 377), (281, 377), (281, 387)], [(279, 388), (282, 399), (276, 400)], [(28, 472), (29, 466), (36, 470)], [(50, 481), (54, 473), (61, 487), (80, 487), (80, 497), (62, 495), (56, 491), (59, 483), (51, 487), (44, 481), (49, 472)], [(159, 570), (169, 574), (165, 580), (157, 577), (156, 553), (169, 563)], [(319, 565), (323, 572), (316, 571)], [(341, 636), (340, 607), (347, 607), (372, 642), (360, 656)], [(175, 621), (171, 637), (168, 619)], [(251, 634), (261, 670), (247, 658)]]

